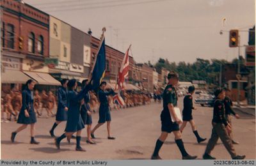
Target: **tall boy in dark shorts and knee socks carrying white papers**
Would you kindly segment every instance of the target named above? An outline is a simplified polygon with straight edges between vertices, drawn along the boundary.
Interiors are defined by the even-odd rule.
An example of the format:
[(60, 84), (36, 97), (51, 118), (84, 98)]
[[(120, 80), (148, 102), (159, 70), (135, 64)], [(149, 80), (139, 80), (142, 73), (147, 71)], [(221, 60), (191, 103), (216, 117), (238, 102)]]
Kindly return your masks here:
[[(162, 122), (162, 133), (157, 139), (156, 147), (154, 153), (151, 157), (152, 160), (161, 159), (159, 156), (159, 150), (163, 146), (164, 140), (166, 140), (168, 133), (173, 132), (175, 135), (175, 142), (180, 149), (182, 154), (182, 159), (195, 159), (197, 156), (190, 156), (185, 150), (184, 144), (181, 139), (181, 133), (179, 130), (179, 124), (182, 123), (181, 119), (177, 117), (174, 111), (174, 107), (177, 107), (177, 92), (175, 90), (175, 85), (178, 83), (178, 75), (175, 72), (168, 73), (168, 85), (164, 89), (163, 93), (163, 111), (161, 112), (161, 122)], [(172, 118), (175, 122), (172, 122)]]

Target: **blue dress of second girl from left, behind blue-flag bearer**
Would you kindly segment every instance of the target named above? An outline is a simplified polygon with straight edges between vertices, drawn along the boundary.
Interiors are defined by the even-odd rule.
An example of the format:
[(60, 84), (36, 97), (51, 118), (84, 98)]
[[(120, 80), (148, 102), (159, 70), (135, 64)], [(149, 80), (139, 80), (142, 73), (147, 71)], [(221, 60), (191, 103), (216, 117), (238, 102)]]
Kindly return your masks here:
[(68, 113), (65, 111), (65, 107), (67, 107), (67, 89), (61, 86), (58, 91), (58, 109), (56, 114), (56, 121), (67, 121)]

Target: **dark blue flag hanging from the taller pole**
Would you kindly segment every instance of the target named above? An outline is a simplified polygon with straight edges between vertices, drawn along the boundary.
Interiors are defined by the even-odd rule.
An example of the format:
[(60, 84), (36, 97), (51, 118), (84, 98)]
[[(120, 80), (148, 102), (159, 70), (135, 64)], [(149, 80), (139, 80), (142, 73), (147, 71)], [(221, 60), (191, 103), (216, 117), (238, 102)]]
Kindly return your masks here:
[(99, 88), (101, 80), (104, 78), (106, 69), (106, 50), (105, 50), (105, 38), (103, 37), (101, 45), (99, 45), (99, 50), (97, 54), (97, 59), (92, 72), (92, 89), (97, 91)]

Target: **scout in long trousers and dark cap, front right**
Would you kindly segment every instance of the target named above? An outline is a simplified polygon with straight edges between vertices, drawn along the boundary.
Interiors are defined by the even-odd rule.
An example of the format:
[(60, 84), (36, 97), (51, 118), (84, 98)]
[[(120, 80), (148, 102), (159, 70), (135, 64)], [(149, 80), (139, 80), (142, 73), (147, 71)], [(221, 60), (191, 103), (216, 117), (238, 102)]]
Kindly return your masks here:
[(206, 146), (205, 153), (203, 158), (209, 160), (215, 160), (216, 158), (212, 157), (211, 151), (214, 149), (219, 137), (226, 147), (228, 153), (231, 155), (232, 159), (243, 160), (245, 155), (239, 156), (236, 155), (236, 151), (232, 144), (232, 140), (230, 139), (228, 133), (231, 132), (231, 126), (228, 124), (225, 119), (225, 107), (223, 104), (223, 100), (225, 98), (225, 91), (221, 88), (216, 89), (214, 92), (216, 96), (216, 100), (214, 102), (213, 109), (213, 118), (212, 118), (212, 135), (211, 139)]

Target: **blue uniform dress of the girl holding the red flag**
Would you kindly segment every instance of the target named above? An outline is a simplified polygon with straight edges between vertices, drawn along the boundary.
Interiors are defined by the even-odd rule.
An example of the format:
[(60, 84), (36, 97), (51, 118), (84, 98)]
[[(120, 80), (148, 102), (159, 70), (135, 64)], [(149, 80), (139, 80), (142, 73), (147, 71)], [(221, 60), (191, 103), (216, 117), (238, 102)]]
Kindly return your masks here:
[(115, 94), (114, 91), (104, 92), (102, 89), (99, 90), (99, 121), (98, 123), (105, 123), (106, 121), (111, 121), (111, 115), (109, 111), (108, 96)]

